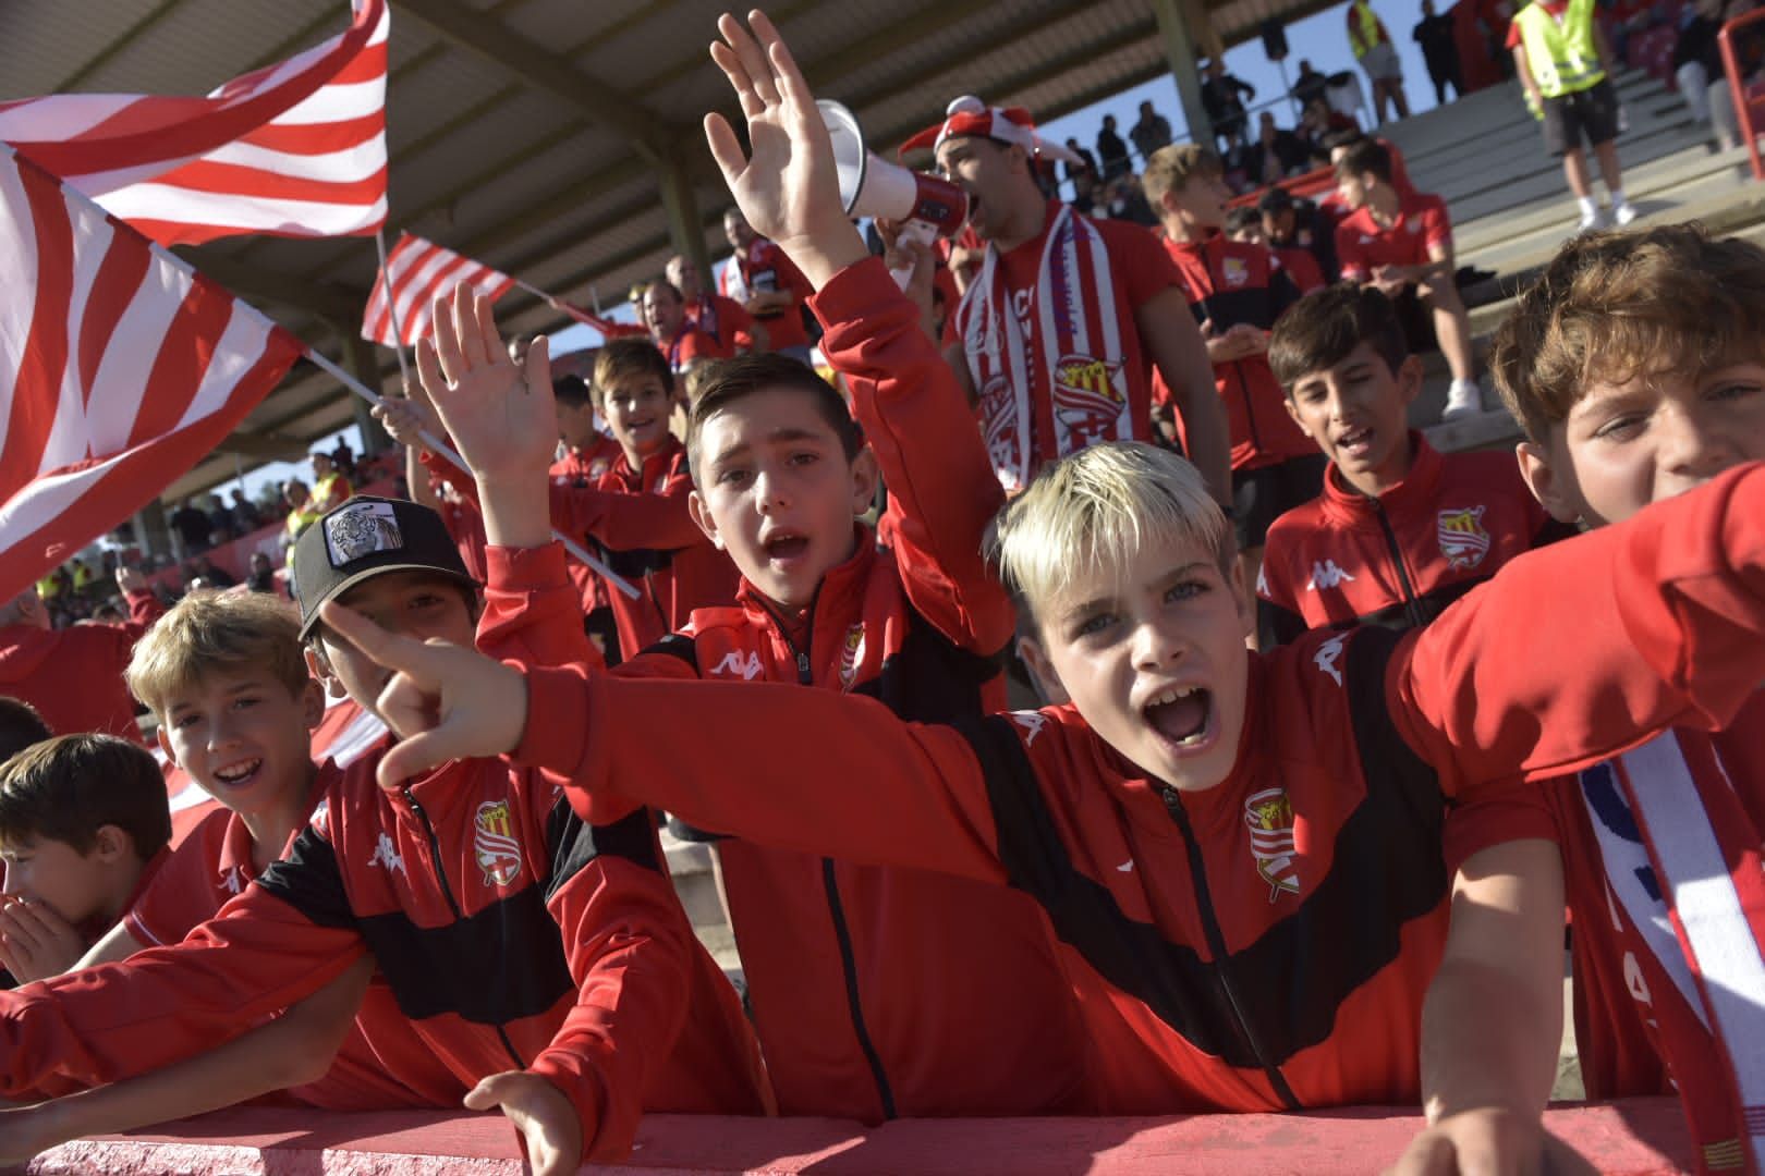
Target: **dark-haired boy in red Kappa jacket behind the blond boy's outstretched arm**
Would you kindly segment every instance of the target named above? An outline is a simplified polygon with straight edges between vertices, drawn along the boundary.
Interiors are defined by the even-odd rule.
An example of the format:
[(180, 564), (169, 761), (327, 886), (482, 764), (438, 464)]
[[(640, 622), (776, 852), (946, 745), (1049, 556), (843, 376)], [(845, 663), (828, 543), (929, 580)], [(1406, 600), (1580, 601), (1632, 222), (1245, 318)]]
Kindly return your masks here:
[(1333, 286), (1269, 337), (1285, 411), (1329, 458), (1322, 494), (1269, 527), (1257, 582), (1267, 645), (1306, 629), (1426, 624), (1514, 555), (1574, 534), (1506, 453), (1438, 453), (1408, 427), (1421, 361), (1391, 301)]

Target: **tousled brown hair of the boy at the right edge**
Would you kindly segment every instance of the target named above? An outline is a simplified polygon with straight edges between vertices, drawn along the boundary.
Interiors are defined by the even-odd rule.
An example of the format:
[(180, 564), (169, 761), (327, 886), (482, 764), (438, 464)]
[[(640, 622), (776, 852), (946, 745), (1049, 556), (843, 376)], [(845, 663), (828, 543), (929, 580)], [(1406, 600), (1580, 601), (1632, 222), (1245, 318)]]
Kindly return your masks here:
[(1594, 381), (1703, 374), (1765, 344), (1765, 250), (1700, 224), (1583, 233), (1495, 333), (1490, 368), (1534, 444)]

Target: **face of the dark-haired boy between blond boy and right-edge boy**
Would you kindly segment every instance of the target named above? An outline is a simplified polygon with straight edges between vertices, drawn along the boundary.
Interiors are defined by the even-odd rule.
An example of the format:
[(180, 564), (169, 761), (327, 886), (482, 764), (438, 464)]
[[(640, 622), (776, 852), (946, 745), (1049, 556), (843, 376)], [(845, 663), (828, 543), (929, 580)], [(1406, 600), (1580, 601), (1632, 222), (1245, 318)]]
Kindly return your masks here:
[(1352, 485), (1391, 485), (1410, 469), (1408, 407), (1421, 390), (1412, 356), (1396, 372), (1373, 344), (1320, 372), (1306, 372), (1287, 397), (1287, 413)]

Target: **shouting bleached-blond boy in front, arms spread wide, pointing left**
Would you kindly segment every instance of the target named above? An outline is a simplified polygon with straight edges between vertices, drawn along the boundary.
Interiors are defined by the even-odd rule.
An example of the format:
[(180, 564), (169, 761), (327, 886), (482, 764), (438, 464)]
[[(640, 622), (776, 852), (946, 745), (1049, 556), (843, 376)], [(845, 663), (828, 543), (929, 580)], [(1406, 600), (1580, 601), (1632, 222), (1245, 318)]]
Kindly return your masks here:
[(1717, 726), (1765, 654), (1765, 467), (1523, 555), (1423, 629), (1267, 656), (1244, 649), (1227, 520), (1151, 446), (1057, 464), (997, 555), (1071, 705), (927, 726), (831, 691), (521, 670), (342, 608), (327, 624), (399, 670), (388, 776), (505, 751), (590, 797), (1029, 892), (1110, 1114), (1414, 1100), (1444, 799)]

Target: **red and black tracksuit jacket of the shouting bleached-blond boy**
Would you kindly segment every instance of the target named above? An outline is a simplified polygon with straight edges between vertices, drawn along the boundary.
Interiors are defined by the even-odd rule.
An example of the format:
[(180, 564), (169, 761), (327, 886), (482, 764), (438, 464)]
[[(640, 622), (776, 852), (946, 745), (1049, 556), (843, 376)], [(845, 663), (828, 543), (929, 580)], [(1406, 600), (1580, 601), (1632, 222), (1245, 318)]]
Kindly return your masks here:
[(1147, 779), (1070, 707), (918, 726), (831, 691), (581, 666), (528, 670), (515, 762), (1031, 894), (1063, 940), (1100, 1111), (1408, 1102), (1446, 933), (1442, 797), (1721, 725), (1761, 654), (1753, 467), (1523, 555), (1424, 629), (1251, 654), (1237, 769), (1205, 793)]

